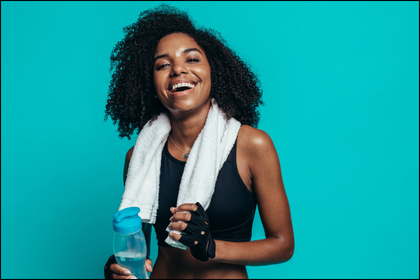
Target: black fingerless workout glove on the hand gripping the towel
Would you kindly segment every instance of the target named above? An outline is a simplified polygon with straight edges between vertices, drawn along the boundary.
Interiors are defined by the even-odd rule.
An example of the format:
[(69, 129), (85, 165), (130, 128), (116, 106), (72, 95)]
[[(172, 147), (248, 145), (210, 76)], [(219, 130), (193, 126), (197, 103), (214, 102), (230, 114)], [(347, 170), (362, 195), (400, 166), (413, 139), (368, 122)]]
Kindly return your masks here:
[(183, 230), (179, 242), (190, 247), (191, 255), (200, 261), (207, 261), (216, 255), (216, 243), (210, 234), (209, 218), (203, 206), (197, 202), (197, 210), (191, 212), (191, 219)]

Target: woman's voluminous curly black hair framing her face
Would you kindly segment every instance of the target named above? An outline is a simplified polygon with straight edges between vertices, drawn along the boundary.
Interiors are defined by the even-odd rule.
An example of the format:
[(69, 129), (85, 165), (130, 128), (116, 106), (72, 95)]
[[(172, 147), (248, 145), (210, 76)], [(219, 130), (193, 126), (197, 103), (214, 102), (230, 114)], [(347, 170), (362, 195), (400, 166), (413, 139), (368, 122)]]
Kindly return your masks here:
[(161, 4), (142, 12), (137, 22), (124, 27), (125, 36), (111, 53), (112, 80), (108, 90), (105, 120), (118, 121), (121, 138), (137, 133), (149, 120), (168, 110), (155, 98), (153, 59), (159, 40), (172, 33), (185, 33), (204, 50), (211, 68), (211, 92), (227, 119), (256, 127), (257, 107), (263, 105), (257, 76), (229, 47), (220, 33), (196, 28), (188, 14)]

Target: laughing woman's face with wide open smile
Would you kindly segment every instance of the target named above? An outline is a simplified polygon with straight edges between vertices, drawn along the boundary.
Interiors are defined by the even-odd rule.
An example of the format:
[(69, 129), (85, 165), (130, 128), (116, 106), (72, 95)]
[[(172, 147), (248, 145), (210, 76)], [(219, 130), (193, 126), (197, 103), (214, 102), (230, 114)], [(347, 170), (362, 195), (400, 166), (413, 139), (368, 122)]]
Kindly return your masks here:
[(210, 104), (210, 64), (190, 36), (173, 33), (163, 37), (153, 67), (156, 95), (172, 114), (194, 112)]

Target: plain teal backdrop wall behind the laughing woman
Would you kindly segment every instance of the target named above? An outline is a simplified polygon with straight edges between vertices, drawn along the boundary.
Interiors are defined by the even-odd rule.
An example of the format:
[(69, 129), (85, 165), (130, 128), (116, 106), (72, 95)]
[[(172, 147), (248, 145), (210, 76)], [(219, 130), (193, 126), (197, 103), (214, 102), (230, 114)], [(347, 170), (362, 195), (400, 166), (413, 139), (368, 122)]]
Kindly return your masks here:
[[(103, 120), (109, 57), (158, 3), (1, 2), (2, 278), (103, 277), (136, 140)], [(419, 3), (169, 4), (262, 81), (296, 247), (250, 278), (418, 278)]]

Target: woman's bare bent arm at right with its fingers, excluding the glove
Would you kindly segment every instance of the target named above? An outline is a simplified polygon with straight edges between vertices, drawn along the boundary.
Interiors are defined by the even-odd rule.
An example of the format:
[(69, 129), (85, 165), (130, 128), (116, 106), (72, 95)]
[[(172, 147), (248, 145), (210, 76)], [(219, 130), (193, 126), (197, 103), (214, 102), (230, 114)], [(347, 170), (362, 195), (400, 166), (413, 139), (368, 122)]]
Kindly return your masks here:
[[(238, 135), (237, 158), (248, 171), (241, 175), (248, 173), (245, 176), (252, 181), (266, 238), (249, 242), (215, 240), (216, 256), (213, 260), (242, 265), (285, 262), (294, 251), (293, 228), (280, 162), (270, 136), (261, 130), (243, 126)], [(196, 210), (193, 204), (189, 207), (194, 208), (190, 211)], [(185, 217), (188, 220), (189, 216)], [(175, 235), (174, 239), (179, 240), (180, 237)]]

